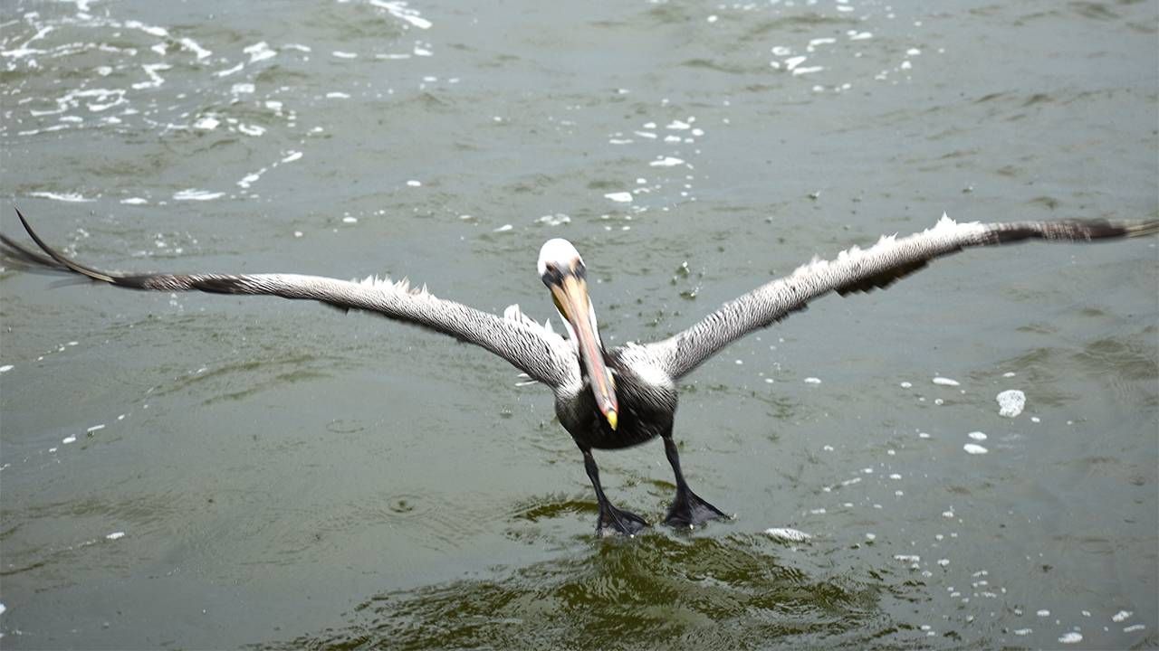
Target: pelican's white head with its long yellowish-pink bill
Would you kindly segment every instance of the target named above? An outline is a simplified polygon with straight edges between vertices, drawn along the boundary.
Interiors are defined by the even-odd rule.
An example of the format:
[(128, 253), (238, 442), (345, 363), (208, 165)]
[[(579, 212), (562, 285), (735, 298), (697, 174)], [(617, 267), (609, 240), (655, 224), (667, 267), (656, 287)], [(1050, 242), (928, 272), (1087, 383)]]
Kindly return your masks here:
[(588, 297), (586, 268), (583, 258), (571, 242), (561, 239), (548, 240), (544, 248), (539, 249), (538, 269), (539, 277), (552, 292), (555, 308), (560, 310), (568, 334), (580, 349), (580, 358), (591, 380), (596, 404), (614, 430), (619, 409), (615, 402), (615, 381), (604, 363), (604, 344), (599, 339), (596, 309)]

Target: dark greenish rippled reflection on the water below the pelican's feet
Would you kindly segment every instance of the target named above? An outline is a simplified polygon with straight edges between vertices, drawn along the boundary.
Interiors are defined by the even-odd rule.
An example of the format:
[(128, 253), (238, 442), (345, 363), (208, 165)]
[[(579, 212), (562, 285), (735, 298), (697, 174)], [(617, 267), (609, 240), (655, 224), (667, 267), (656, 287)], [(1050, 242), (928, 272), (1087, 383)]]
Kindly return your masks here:
[(897, 619), (925, 597), (907, 575), (851, 562), (845, 555), (854, 550), (795, 548), (729, 526), (574, 536), (555, 558), (376, 594), (344, 613), (343, 624), (253, 648), (917, 649), (936, 642)]

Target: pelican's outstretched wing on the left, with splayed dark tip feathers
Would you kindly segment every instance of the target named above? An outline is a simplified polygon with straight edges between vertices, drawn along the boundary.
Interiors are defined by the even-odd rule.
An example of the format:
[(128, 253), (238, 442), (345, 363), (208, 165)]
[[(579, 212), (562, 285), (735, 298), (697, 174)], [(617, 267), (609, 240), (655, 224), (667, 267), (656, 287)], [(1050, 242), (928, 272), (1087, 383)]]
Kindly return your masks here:
[(425, 287), (411, 288), (406, 280), (392, 283), (376, 277), (353, 281), (297, 273), (110, 273), (67, 258), (41, 240), (20, 211), (16, 214), (46, 255), (31, 251), (2, 234), (0, 242), (8, 247), (3, 253), (27, 264), (70, 271), (132, 290), (271, 295), (314, 300), (348, 310), (374, 312), (480, 345), (510, 361), (532, 379), (552, 387), (578, 374), (574, 346), (551, 329), (534, 324), (517, 309), (510, 316), (501, 317), (455, 301), (438, 299)]

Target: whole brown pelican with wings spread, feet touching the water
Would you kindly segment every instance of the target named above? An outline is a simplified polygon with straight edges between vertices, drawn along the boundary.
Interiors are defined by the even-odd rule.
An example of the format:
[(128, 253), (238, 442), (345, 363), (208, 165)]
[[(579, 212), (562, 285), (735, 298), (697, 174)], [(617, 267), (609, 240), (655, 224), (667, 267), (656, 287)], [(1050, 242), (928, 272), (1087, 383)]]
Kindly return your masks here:
[(584, 468), (599, 503), (596, 531), (633, 535), (648, 524), (612, 505), (599, 483), (592, 449), (640, 445), (655, 437), (676, 475), (676, 498), (665, 522), (694, 527), (724, 513), (692, 492), (684, 474), (672, 419), (676, 382), (741, 336), (771, 326), (830, 292), (848, 294), (885, 287), (930, 261), (967, 247), (1025, 240), (1089, 242), (1159, 232), (1159, 220), (1121, 222), (1023, 221), (957, 224), (942, 215), (932, 228), (907, 237), (885, 236), (868, 249), (853, 247), (832, 261), (814, 258), (785, 278), (724, 303), (687, 330), (650, 344), (607, 349), (599, 338), (596, 309), (588, 295), (586, 268), (567, 240), (549, 240), (539, 251), (539, 276), (563, 317), (567, 338), (526, 317), (518, 306), (503, 316), (435, 298), (406, 280), (370, 277), (338, 280), (291, 273), (111, 273), (74, 262), (44, 243), (20, 214), (43, 250), (35, 253), (0, 235), (5, 253), (25, 263), (70, 271), (118, 287), (162, 292), (202, 291), (308, 299), (342, 309), (373, 312), (423, 326), (480, 345), (555, 392), (555, 412), (583, 453)]

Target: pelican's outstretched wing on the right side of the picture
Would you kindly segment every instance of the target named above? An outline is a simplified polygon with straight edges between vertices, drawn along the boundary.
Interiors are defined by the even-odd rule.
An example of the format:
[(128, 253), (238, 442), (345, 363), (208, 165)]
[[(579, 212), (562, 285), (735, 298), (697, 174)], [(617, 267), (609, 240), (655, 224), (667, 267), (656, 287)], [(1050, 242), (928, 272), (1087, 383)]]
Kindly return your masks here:
[(804, 309), (829, 292), (845, 295), (887, 287), (930, 261), (967, 247), (1026, 240), (1089, 242), (1135, 237), (1159, 232), (1159, 221), (1107, 220), (957, 224), (946, 215), (933, 228), (907, 237), (883, 236), (868, 249), (853, 247), (837, 259), (814, 258), (792, 275), (724, 303), (695, 326), (662, 342), (647, 344), (649, 357), (672, 378), (679, 378), (729, 343)]

